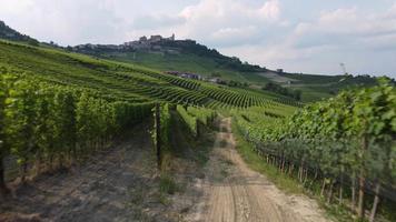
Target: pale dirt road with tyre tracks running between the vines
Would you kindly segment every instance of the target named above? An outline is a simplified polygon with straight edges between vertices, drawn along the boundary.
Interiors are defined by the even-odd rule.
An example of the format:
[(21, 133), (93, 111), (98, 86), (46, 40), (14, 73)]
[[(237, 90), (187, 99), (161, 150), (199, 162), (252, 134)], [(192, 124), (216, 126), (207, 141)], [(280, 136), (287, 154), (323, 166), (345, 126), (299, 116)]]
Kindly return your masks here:
[(286, 195), (246, 165), (235, 149), (230, 121), (228, 118), (220, 123), (206, 178), (196, 185), (204, 195), (187, 221), (327, 222), (315, 201)]

